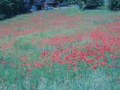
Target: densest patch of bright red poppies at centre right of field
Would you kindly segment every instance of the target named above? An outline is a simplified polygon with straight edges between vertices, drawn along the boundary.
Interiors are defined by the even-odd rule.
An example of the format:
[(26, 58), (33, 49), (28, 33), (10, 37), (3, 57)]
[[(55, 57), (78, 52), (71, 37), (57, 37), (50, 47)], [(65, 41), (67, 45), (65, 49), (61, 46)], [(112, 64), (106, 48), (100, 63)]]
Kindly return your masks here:
[[(110, 68), (112, 68), (112, 65), (109, 65), (108, 61), (105, 60), (107, 57), (106, 52), (112, 53), (113, 55), (115, 52), (117, 52), (120, 49), (120, 36), (113, 36), (111, 30), (101, 30), (101, 28), (96, 28), (90, 31), (89, 35), (86, 36), (87, 34), (79, 35), (76, 37), (76, 39), (81, 40), (89, 40), (92, 41), (92, 43), (86, 43), (85, 45), (68, 45), (65, 49), (63, 48), (56, 48), (54, 52), (51, 54), (43, 51), (41, 52), (42, 57), (47, 57), (50, 55), (50, 60), (52, 62), (59, 63), (60, 65), (63, 64), (69, 64), (67, 66), (68, 69), (70, 69), (70, 65), (73, 66), (73, 71), (75, 71), (75, 66), (77, 63), (82, 63), (85, 62), (87, 65), (93, 64), (92, 68), (97, 68), (98, 66), (106, 66), (108, 65)], [(109, 31), (109, 32), (108, 32)], [(118, 32), (118, 31), (116, 31)], [(63, 46), (63, 43), (71, 43), (72, 38), (68, 38), (67, 40), (62, 37), (55, 37), (55, 38), (50, 38), (50, 42), (53, 43), (53, 45), (58, 45), (61, 43)], [(95, 45), (94, 45), (95, 44)], [(59, 47), (59, 45), (57, 46)], [(111, 59), (114, 59), (115, 56), (110, 56)], [(88, 58), (88, 56), (91, 56), (92, 58)], [(63, 58), (64, 57), (64, 58)], [(101, 61), (102, 60), (102, 61)], [(97, 63), (96, 63), (97, 62)], [(38, 62), (34, 63), (34, 66), (40, 67), (42, 64), (39, 64)]]

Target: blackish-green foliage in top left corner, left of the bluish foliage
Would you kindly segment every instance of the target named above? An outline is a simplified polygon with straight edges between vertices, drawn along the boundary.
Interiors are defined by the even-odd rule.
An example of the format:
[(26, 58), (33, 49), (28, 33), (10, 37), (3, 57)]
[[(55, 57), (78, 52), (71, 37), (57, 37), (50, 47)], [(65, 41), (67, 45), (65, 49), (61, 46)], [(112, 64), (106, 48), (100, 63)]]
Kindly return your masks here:
[(8, 18), (20, 13), (20, 8), (24, 8), (25, 0), (1, 0), (0, 14), (6, 14)]

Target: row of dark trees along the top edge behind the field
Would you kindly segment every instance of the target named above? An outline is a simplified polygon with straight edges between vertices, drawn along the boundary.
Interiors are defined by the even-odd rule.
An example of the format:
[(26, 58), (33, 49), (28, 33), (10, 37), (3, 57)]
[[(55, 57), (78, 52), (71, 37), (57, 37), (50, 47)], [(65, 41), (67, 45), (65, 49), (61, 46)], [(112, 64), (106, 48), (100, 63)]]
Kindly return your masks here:
[[(7, 18), (11, 18), (21, 13), (29, 13), (31, 6), (36, 5), (37, 9), (40, 10), (44, 7), (46, 0), (0, 0), (0, 15), (4, 14)], [(57, 3), (70, 3), (79, 4), (82, 6), (83, 2), (85, 5), (96, 4), (96, 5), (108, 5), (111, 10), (115, 10), (120, 5), (120, 0), (49, 0)], [(82, 4), (81, 4), (82, 3)]]

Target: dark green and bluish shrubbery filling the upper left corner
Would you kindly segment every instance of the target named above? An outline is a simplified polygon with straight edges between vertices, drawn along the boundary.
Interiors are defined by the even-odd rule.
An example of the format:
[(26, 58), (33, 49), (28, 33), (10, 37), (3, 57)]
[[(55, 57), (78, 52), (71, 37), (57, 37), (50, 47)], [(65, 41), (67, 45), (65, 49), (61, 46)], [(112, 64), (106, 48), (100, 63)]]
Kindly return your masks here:
[[(45, 2), (45, 0), (42, 1)], [(30, 12), (33, 4), (37, 7), (40, 3), (40, 0), (1, 0), (0, 14), (5, 14), (7, 18), (11, 18), (17, 14)]]

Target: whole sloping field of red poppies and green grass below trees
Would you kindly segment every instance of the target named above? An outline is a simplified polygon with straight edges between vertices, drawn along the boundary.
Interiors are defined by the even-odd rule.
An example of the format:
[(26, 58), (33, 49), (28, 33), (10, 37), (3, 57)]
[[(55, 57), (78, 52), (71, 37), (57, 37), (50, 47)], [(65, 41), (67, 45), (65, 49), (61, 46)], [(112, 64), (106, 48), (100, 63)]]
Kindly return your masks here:
[(0, 90), (119, 90), (119, 13), (69, 7), (2, 22)]

